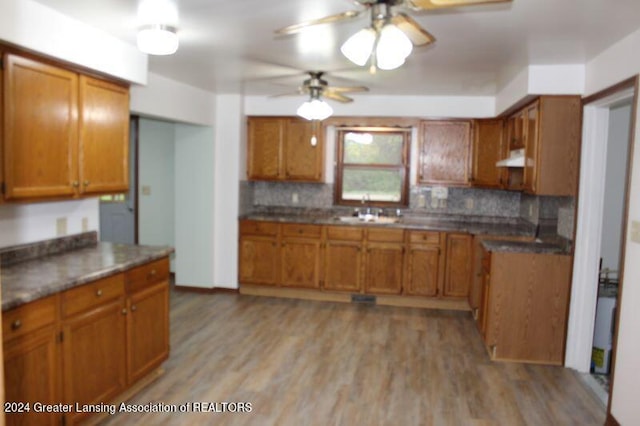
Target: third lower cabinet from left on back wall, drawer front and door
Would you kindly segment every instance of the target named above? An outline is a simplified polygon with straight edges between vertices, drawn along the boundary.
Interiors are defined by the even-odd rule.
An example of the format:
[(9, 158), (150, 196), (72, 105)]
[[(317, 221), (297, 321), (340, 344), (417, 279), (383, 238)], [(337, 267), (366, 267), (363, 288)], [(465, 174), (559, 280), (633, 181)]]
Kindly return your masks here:
[(329, 226), (325, 232), (322, 288), (361, 292), (364, 231), (357, 227)]

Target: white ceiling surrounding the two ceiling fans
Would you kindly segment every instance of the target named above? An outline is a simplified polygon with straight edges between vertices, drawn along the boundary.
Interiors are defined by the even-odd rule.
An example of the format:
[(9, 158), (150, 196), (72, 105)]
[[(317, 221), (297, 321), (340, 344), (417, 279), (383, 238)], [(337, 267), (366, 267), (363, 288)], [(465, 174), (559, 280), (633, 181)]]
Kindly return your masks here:
[[(135, 0), (37, 0), (135, 43)], [(340, 45), (367, 26), (367, 14), (291, 36), (273, 31), (358, 9), (349, 0), (179, 0), (180, 48), (150, 57), (150, 71), (217, 93), (291, 92), (305, 70), (333, 85), (363, 84), (375, 95), (493, 95), (523, 66), (582, 64), (640, 28), (640, 0), (513, 0), (411, 12), (437, 41), (405, 65), (371, 75)]]

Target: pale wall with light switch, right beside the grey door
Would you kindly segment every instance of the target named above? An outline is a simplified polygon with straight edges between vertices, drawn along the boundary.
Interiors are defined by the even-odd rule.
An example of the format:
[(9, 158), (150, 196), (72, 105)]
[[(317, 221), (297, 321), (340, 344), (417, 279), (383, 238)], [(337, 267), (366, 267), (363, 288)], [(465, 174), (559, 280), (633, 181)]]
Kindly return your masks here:
[(138, 241), (175, 245), (175, 125), (140, 118), (138, 131)]

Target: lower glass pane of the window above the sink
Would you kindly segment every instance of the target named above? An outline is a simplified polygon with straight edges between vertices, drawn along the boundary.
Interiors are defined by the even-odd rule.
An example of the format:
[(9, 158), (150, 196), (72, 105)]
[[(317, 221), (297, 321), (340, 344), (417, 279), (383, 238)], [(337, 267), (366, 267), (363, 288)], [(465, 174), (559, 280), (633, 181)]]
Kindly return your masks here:
[(350, 169), (342, 175), (342, 199), (360, 201), (365, 195), (371, 201), (399, 202), (402, 174), (399, 170)]

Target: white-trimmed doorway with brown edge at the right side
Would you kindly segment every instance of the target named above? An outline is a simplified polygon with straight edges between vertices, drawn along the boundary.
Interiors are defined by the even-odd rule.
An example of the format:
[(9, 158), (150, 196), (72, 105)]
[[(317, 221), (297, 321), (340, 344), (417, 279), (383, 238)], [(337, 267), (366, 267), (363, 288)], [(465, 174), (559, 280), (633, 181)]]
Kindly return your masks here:
[[(635, 114), (636, 96), (633, 78), (590, 96), (583, 103), (580, 191), (565, 355), (565, 365), (582, 373), (589, 373), (592, 367), (598, 305), (603, 305), (601, 302), (609, 296), (609, 303), (605, 303), (608, 311), (601, 306), (599, 321), (607, 316), (611, 320), (615, 316), (613, 305), (619, 302), (617, 297), (611, 300), (611, 293), (603, 293), (602, 287), (605, 282), (611, 285), (618, 281), (620, 287), (623, 284), (631, 117)], [(609, 323), (608, 328), (608, 347), (599, 353), (602, 359), (596, 357), (602, 364), (609, 364), (612, 356), (614, 339), (608, 335), (614, 327)], [(605, 405), (607, 396), (601, 393)]]

